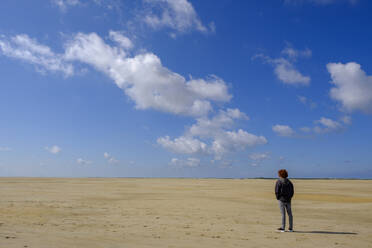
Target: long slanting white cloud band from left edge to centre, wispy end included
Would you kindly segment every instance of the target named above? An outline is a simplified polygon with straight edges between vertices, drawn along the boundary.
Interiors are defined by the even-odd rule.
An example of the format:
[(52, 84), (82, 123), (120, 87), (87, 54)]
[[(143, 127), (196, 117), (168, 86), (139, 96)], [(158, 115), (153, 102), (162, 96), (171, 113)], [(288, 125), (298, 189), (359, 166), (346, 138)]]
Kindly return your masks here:
[(64, 54), (56, 54), (27, 35), (10, 39), (2, 36), (0, 51), (32, 63), (39, 70), (62, 71), (67, 76), (73, 74), (71, 63), (89, 64), (114, 80), (137, 109), (197, 117), (208, 114), (213, 102), (231, 99), (226, 83), (217, 76), (186, 80), (164, 67), (153, 53), (129, 57), (126, 50), (130, 44), (122, 34), (112, 31), (110, 37), (119, 46), (110, 46), (95, 33), (78, 33), (65, 44)]

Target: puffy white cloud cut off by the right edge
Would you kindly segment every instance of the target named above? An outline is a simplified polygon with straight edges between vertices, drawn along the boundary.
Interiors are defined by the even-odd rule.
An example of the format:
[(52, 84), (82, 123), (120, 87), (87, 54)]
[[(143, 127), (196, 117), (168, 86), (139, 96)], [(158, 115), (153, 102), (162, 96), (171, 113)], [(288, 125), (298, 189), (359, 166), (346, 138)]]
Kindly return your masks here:
[(329, 63), (328, 72), (334, 85), (330, 96), (339, 101), (345, 111), (372, 113), (372, 76), (368, 76), (355, 62)]

